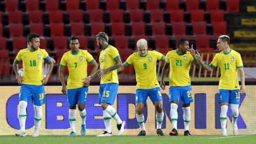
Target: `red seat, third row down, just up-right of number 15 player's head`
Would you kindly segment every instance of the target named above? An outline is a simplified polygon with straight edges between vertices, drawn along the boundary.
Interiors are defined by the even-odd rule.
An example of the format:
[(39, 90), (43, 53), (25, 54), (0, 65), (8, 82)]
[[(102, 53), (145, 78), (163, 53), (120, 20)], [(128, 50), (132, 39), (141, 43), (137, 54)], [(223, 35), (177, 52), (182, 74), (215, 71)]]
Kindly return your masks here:
[(123, 36), (125, 34), (125, 23), (124, 22), (112, 22), (111, 33), (114, 36)]

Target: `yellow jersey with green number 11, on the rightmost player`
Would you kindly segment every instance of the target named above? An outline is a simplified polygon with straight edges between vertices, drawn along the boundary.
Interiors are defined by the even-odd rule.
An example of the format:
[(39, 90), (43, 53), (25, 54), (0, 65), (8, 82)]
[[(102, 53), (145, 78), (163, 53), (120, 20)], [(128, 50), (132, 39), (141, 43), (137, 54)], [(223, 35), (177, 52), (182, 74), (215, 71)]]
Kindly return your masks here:
[(213, 68), (219, 65), (221, 76), (219, 80), (219, 89), (239, 90), (237, 69), (243, 67), (240, 53), (230, 49), (228, 53), (223, 51), (217, 53), (210, 64)]

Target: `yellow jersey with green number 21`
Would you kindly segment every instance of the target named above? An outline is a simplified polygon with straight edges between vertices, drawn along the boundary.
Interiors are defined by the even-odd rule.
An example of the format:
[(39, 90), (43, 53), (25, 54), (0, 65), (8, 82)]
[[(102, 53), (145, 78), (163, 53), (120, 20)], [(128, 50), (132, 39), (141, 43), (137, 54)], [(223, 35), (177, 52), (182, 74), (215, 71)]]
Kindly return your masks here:
[(190, 52), (179, 54), (177, 50), (172, 50), (166, 54), (165, 63), (170, 64), (170, 86), (190, 85), (189, 69), (193, 60)]

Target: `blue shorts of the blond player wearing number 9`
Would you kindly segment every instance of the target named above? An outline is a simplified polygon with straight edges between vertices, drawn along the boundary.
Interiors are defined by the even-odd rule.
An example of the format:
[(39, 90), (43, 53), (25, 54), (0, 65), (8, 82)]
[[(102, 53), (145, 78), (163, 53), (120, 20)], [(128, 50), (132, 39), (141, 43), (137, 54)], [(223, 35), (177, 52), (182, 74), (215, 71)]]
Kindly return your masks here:
[(148, 99), (155, 103), (155, 101), (163, 101), (160, 87), (155, 87), (153, 89), (136, 89), (136, 103), (143, 102), (146, 105)]

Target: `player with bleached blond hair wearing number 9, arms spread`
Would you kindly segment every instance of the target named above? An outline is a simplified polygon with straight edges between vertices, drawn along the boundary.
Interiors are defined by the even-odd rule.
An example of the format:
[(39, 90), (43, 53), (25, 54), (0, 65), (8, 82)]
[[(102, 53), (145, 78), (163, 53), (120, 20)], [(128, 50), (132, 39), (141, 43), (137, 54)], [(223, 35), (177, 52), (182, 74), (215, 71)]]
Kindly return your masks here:
[(163, 136), (161, 125), (164, 117), (163, 99), (161, 96), (160, 85), (156, 77), (156, 62), (157, 60), (165, 60), (165, 56), (156, 51), (148, 51), (147, 41), (139, 39), (137, 42), (137, 53), (133, 53), (123, 63), (122, 67), (117, 71), (122, 71), (132, 65), (135, 69), (137, 89), (136, 89), (136, 117), (139, 123), (140, 132), (138, 136), (145, 136), (145, 124), (143, 111), (146, 105), (147, 98), (155, 105), (156, 109), (156, 133)]

